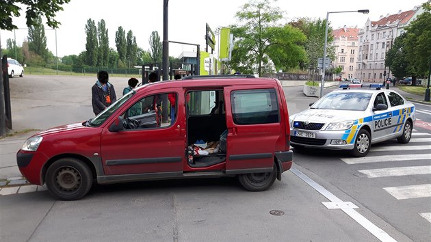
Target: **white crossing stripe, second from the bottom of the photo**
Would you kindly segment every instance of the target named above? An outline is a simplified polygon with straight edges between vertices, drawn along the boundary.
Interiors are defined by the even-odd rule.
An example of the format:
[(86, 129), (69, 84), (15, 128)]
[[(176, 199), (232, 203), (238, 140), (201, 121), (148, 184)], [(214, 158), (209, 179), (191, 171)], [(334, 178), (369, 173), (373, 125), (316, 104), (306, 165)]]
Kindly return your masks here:
[(431, 184), (411, 185), (402, 187), (383, 187), (397, 200), (410, 198), (430, 198)]

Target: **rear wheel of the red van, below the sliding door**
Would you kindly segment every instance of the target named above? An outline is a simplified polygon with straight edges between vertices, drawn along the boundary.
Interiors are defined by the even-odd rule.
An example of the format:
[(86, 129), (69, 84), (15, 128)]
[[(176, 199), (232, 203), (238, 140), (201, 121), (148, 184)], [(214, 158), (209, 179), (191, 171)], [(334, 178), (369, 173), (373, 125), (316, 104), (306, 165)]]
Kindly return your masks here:
[(265, 191), (270, 188), (277, 177), (277, 166), (274, 163), (272, 172), (239, 174), (239, 183), (248, 191)]

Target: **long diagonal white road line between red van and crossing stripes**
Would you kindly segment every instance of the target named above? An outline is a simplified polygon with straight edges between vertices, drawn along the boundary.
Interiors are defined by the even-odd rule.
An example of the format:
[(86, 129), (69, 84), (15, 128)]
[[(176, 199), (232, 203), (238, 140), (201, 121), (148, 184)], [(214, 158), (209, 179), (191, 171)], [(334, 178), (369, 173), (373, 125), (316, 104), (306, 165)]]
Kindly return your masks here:
[[(290, 171), (298, 176), (301, 180), (304, 180), (305, 183), (313, 187), (320, 194), (328, 198), (331, 202), (343, 202), (341, 199), (337, 198), (330, 191), (326, 190), (321, 185), (317, 184), (314, 180), (311, 180), (304, 173), (300, 172), (300, 170), (296, 169), (296, 167), (292, 167)], [(354, 204), (353, 204), (354, 205)], [(373, 234), (380, 241), (395, 241), (387, 232), (384, 232), (381, 228), (378, 228), (375, 224), (371, 223), (366, 217), (355, 211), (354, 209), (341, 209), (344, 213), (349, 215), (352, 219), (354, 219), (358, 224), (363, 226), (366, 230), (368, 230), (371, 234)]]

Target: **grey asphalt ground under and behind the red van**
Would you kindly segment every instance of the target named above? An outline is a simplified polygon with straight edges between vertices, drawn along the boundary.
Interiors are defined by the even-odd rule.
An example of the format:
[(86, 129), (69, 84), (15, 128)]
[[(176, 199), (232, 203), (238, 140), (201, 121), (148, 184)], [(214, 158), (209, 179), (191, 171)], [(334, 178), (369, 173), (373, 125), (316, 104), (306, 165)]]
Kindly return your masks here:
[[(31, 75), (12, 79), (14, 129), (47, 129), (92, 118), (90, 88), (94, 81), (90, 77)], [(120, 94), (127, 78), (110, 81)], [(285, 88), (285, 92), (290, 113), (306, 109), (317, 100), (304, 96), (302, 87)], [(1, 157), (1, 163), (12, 162), (9, 158), (16, 152), (15, 146), (21, 146), (19, 139), (10, 140), (12, 143), (2, 144), (1, 148), (11, 155)], [(73, 202), (55, 201), (47, 191), (0, 196), (0, 241), (429, 238), (430, 224), (418, 213), (430, 213), (430, 199), (395, 200), (383, 189), (387, 184), (393, 187), (430, 183), (429, 176), (376, 180), (365, 178), (358, 170), (388, 163), (348, 165), (341, 160), (345, 154), (338, 152), (294, 152), (293, 169), (285, 172), (271, 189), (259, 193), (244, 191), (234, 178), (213, 178), (95, 186), (88, 196)], [(328, 209), (322, 202), (358, 208)], [(271, 215), (272, 210), (284, 215)]]

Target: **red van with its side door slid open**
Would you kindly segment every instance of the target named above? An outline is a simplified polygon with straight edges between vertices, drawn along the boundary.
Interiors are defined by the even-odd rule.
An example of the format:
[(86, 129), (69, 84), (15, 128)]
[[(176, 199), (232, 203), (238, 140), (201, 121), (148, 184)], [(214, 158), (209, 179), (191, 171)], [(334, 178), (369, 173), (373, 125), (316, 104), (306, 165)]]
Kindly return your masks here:
[[(159, 120), (160, 100), (172, 119)], [(168, 178), (237, 176), (263, 191), (292, 165), (289, 132), (278, 80), (192, 76), (142, 85), (95, 118), (42, 131), (16, 159), (60, 200), (82, 198), (94, 182)]]

